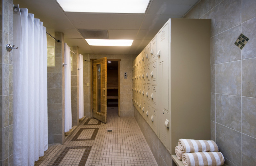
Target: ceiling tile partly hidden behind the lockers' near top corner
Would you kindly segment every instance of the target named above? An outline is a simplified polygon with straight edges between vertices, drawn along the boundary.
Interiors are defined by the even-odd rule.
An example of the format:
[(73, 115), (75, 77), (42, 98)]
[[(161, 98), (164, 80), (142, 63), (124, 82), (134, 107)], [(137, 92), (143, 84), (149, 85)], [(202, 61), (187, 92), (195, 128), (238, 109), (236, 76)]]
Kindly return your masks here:
[(181, 15), (156, 15), (147, 14), (140, 29), (160, 30), (170, 18), (181, 18)]

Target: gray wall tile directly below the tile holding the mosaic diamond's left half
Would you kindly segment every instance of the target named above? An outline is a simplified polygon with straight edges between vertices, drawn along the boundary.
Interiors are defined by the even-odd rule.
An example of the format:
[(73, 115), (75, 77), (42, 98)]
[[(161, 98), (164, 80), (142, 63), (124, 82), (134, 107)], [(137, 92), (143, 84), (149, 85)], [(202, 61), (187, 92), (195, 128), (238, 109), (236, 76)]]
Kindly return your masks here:
[(241, 95), (241, 61), (215, 65), (216, 93)]

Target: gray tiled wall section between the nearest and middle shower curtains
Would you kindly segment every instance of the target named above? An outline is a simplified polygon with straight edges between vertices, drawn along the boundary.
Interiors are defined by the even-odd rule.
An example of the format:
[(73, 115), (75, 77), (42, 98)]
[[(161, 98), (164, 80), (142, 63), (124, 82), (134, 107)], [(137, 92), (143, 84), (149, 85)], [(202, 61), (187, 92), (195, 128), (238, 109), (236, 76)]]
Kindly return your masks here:
[[(62, 32), (55, 38), (64, 41)], [(48, 143), (64, 143), (64, 42), (55, 41), (55, 66), (47, 67)]]

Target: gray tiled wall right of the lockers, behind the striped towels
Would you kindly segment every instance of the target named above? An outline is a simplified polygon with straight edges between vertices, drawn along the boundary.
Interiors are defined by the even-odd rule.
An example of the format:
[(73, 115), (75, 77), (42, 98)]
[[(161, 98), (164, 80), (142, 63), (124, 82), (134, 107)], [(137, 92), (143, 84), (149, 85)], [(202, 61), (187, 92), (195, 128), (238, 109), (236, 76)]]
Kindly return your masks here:
[(201, 0), (185, 18), (212, 19), (211, 138), (228, 165), (255, 165), (256, 1)]

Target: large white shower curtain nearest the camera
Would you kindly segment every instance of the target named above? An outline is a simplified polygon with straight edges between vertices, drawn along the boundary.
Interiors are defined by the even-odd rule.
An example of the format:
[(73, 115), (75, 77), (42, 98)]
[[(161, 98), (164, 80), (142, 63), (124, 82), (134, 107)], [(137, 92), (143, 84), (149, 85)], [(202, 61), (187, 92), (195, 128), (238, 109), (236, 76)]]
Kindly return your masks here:
[(19, 8), (13, 34), (13, 162), (34, 165), (48, 149), (46, 28)]

